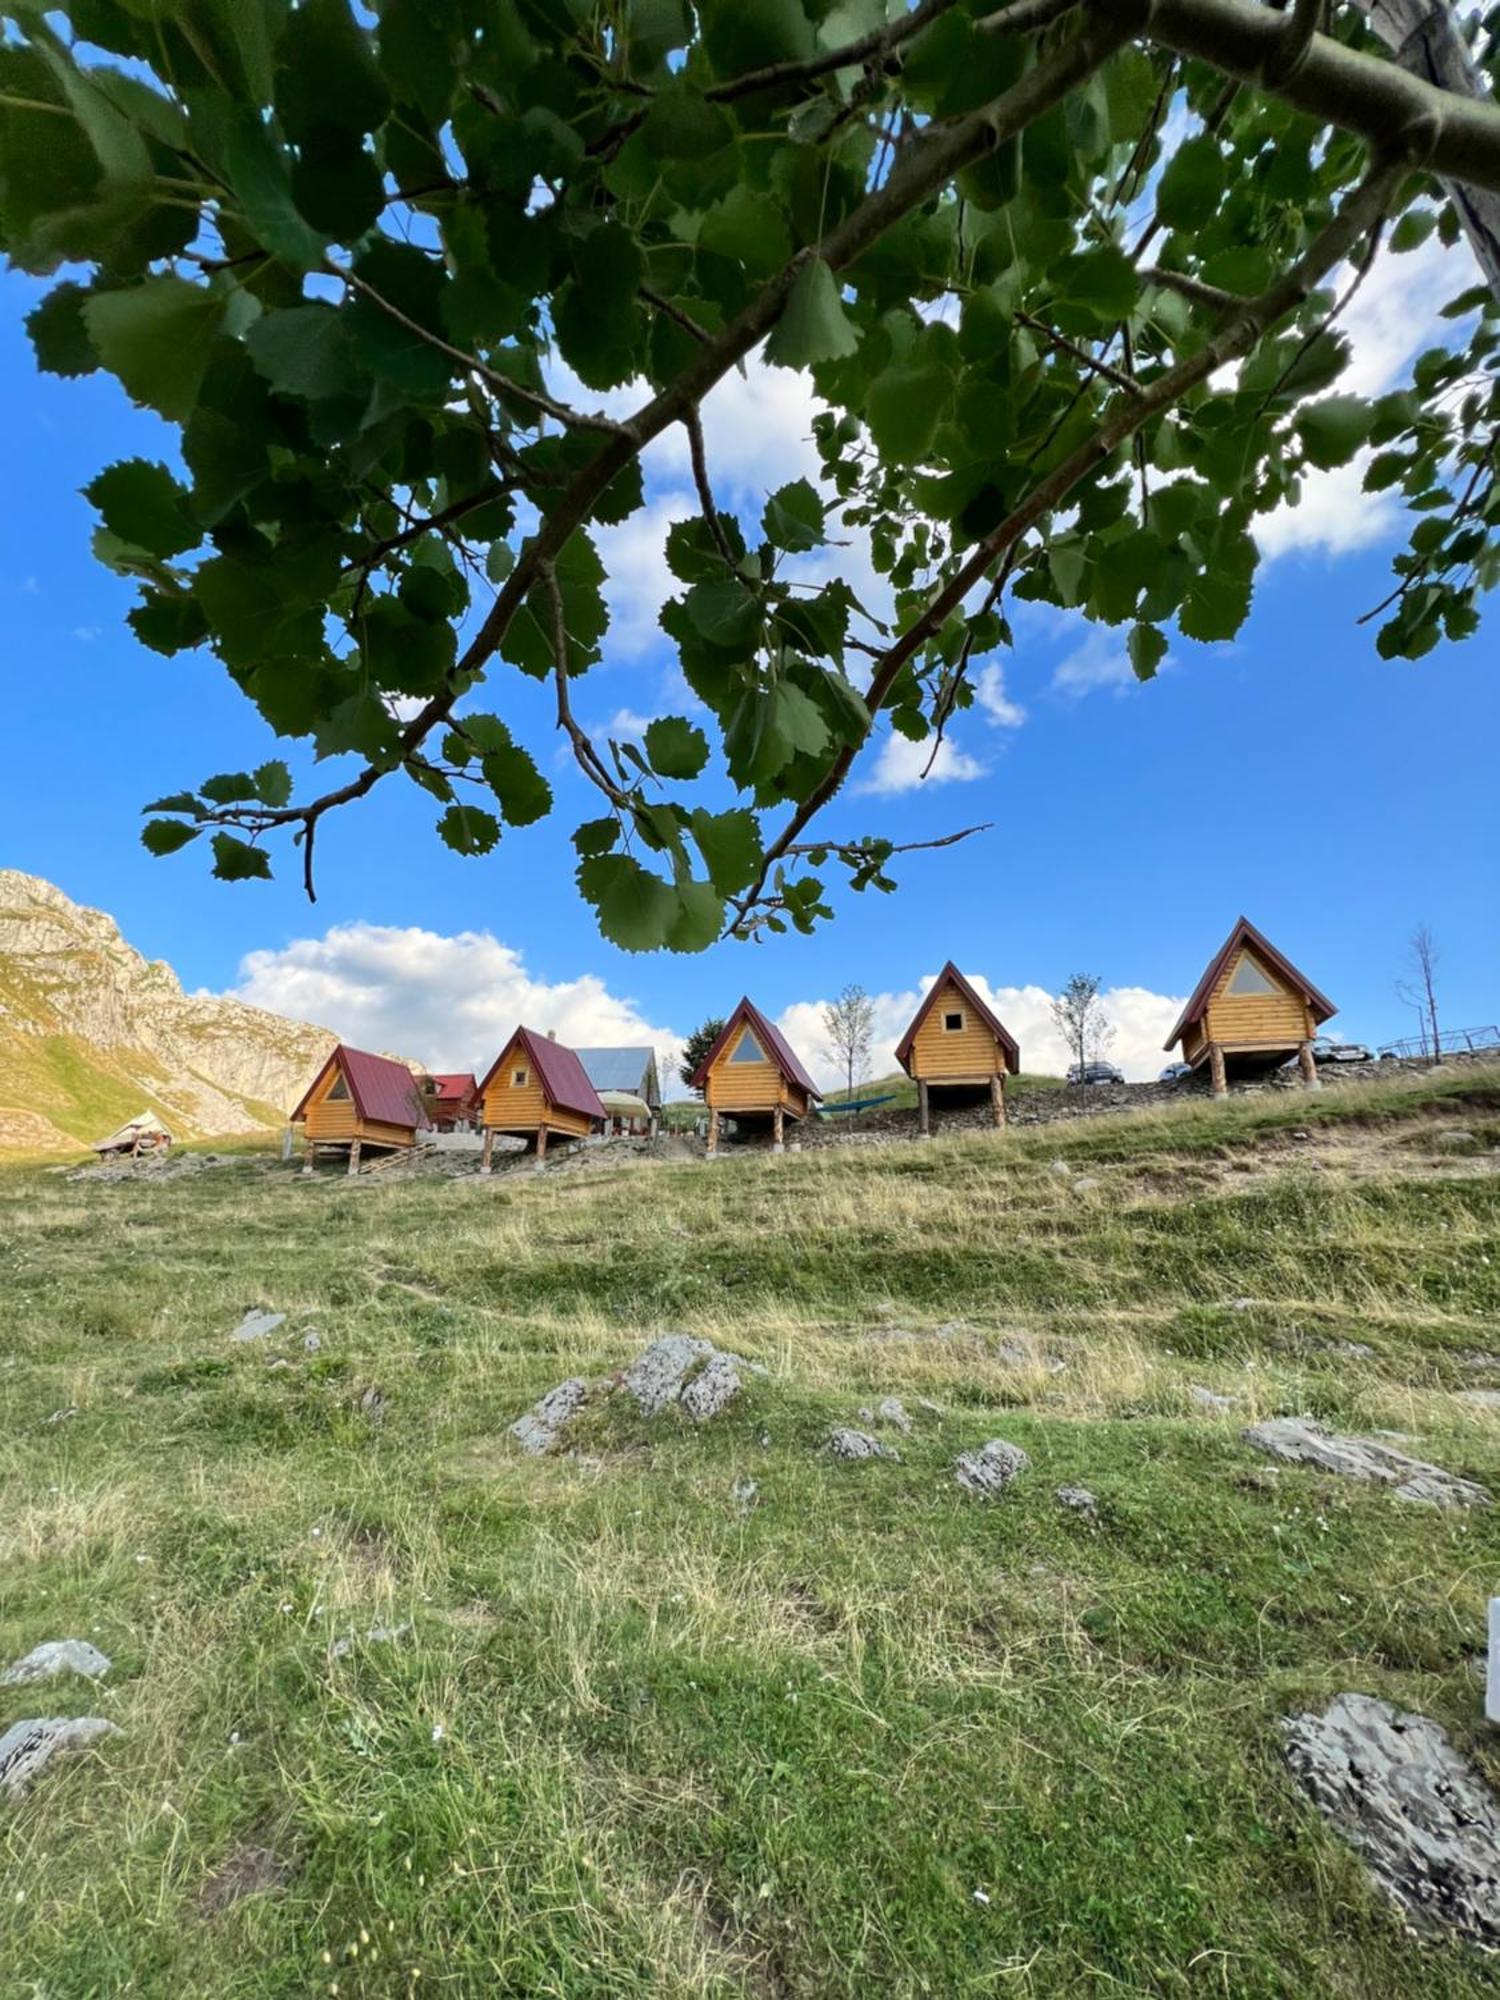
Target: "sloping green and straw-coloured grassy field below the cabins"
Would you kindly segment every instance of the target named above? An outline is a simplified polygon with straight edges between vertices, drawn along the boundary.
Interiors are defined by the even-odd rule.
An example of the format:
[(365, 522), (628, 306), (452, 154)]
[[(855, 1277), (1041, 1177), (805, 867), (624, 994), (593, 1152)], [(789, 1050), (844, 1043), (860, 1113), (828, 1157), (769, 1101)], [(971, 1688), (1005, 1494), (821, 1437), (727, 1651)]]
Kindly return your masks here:
[[(1500, 1510), (1240, 1438), (1390, 1426), (1500, 1494), (1456, 1394), (1500, 1386), (1498, 1144), (1466, 1070), (714, 1168), (0, 1172), (0, 1664), (114, 1656), (0, 1730), (122, 1730), (0, 1804), (0, 1994), (1500, 1990), (1278, 1744), (1364, 1690), (1500, 1780)], [(672, 1328), (770, 1372), (514, 1450)], [(900, 1462), (820, 1454), (890, 1394)], [(952, 1480), (992, 1436), (998, 1504)]]

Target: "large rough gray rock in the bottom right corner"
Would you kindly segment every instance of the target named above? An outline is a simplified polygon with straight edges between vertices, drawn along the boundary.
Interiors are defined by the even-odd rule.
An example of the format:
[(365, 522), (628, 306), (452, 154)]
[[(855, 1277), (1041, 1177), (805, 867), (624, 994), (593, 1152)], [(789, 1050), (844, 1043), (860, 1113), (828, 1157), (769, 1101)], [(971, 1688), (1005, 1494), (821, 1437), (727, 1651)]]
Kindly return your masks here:
[(1338, 1694), (1282, 1732), (1302, 1788), (1416, 1928), (1500, 1946), (1500, 1800), (1436, 1722)]

